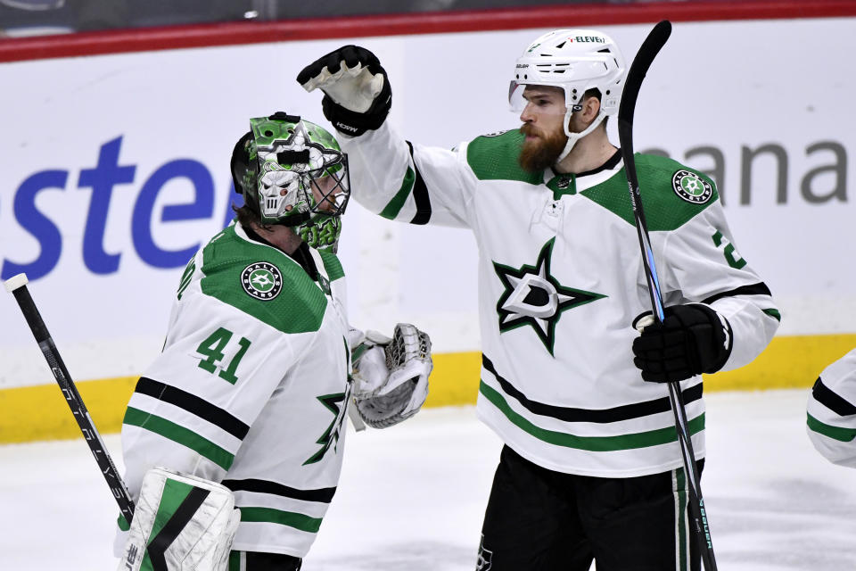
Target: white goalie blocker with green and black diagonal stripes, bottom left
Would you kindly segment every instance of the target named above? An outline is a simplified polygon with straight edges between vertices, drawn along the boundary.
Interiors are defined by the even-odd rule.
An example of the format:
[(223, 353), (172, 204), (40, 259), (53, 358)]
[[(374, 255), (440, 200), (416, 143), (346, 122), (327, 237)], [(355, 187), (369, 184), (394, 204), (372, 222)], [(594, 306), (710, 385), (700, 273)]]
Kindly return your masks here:
[(240, 521), (226, 486), (152, 468), (143, 478), (119, 571), (226, 571)]

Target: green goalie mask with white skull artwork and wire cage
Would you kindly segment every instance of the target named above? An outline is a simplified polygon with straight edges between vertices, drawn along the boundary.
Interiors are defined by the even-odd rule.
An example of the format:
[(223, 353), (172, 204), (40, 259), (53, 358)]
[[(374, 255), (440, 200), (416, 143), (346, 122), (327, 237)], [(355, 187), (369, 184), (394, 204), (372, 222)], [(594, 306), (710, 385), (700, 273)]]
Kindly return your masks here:
[(250, 120), (232, 153), (235, 192), (262, 225), (294, 228), (313, 248), (336, 244), (350, 198), (348, 157), (308, 120), (276, 112)]

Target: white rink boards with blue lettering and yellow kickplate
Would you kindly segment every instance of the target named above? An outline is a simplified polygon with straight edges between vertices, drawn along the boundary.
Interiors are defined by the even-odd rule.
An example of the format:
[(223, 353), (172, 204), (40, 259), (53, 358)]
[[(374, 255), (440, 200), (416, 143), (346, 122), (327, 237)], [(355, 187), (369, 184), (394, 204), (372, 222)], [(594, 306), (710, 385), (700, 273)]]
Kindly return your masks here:
[[(770, 3), (741, 5), (753, 4)], [(746, 368), (708, 378), (709, 391), (808, 386), (856, 345), (847, 184), (856, 133), (843, 120), (856, 85), (839, 66), (856, 50), (856, 20), (823, 12), (833, 4), (841, 3), (774, 21), (752, 19), (770, 17), (761, 12), (676, 19), (639, 97), (638, 150), (712, 175), (740, 255), (782, 310), (770, 348)], [(555, 25), (575, 25), (568, 13)], [(636, 23), (600, 25), (597, 13), (584, 23), (611, 34), (630, 60), (656, 18), (614, 13), (602, 21)], [(230, 218), (228, 158), (247, 120), (284, 110), (327, 124), (319, 97), (293, 79), (303, 64), (344, 43), (369, 47), (391, 77), (393, 126), (451, 147), (518, 124), (506, 109), (507, 82), (546, 25), (525, 14), (514, 20), (519, 29), (456, 31), (424, 19), (423, 29), (391, 32), (401, 35), (366, 28), (359, 37), (228, 46), (206, 45), (209, 29), (200, 28), (193, 47), (150, 41), (144, 51), (98, 55), (58, 47), (62, 57), (0, 63), (0, 82), (14, 87), (0, 107), (0, 277), (28, 273), (98, 426), (118, 429), (136, 377), (160, 350), (181, 269)], [(264, 37), (265, 24), (257, 29)], [(428, 404), (473, 402), (481, 356), (472, 237), (349, 208), (340, 253), (353, 324), (423, 327), (438, 353)], [(0, 302), (0, 323), (0, 442), (73, 436), (11, 296)]]

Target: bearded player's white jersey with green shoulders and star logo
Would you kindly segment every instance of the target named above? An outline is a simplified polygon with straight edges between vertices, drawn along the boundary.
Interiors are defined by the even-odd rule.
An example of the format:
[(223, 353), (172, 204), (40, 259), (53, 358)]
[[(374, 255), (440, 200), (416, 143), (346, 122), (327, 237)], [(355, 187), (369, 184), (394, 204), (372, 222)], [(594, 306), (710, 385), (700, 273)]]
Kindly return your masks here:
[[(651, 304), (621, 157), (578, 175), (533, 174), (518, 165), (522, 144), (514, 130), (448, 151), (406, 142), (388, 122), (342, 137), (353, 195), (366, 208), (473, 230), (477, 411), (508, 446), (545, 468), (586, 476), (678, 468), (667, 387), (644, 382), (633, 365), (638, 333), (630, 326)], [(662, 157), (637, 155), (637, 164), (664, 302), (710, 304), (733, 328), (725, 368), (745, 365), (780, 316), (735, 250), (712, 181)], [(702, 378), (682, 390), (702, 458)]]

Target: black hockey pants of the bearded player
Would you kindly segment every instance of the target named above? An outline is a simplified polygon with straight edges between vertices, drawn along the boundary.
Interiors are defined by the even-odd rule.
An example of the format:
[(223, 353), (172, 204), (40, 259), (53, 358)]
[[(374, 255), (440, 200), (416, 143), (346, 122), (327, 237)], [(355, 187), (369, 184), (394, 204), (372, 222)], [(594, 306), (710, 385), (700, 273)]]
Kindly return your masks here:
[[(697, 462), (699, 471), (704, 460)], [(698, 571), (684, 469), (629, 478), (541, 468), (508, 448), (481, 528), (478, 571)]]

